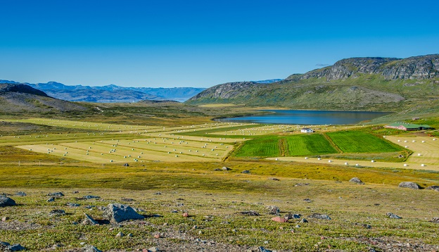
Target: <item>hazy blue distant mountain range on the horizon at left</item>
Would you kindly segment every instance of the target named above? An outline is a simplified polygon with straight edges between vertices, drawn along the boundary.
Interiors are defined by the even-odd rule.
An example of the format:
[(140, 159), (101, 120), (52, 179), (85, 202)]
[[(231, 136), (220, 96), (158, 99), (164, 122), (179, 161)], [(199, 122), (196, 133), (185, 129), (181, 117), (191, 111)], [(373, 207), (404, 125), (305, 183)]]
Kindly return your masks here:
[[(18, 84), (11, 80), (0, 80), (0, 83)], [(63, 99), (65, 101), (89, 101), (98, 103), (111, 102), (136, 102), (142, 100), (174, 100), (186, 101), (187, 99), (202, 92), (205, 88), (198, 87), (120, 87), (114, 84), (90, 87), (90, 86), (68, 86), (59, 82), (47, 83), (25, 83), (30, 87), (42, 90), (49, 96)]]

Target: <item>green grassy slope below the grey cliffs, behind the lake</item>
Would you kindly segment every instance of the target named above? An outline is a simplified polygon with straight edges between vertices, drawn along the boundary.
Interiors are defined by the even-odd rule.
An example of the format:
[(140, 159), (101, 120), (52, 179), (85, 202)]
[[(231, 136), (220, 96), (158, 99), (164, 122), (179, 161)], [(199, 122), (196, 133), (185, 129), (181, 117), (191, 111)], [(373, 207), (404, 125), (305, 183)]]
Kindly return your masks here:
[(280, 106), (297, 109), (397, 111), (437, 103), (439, 79), (385, 80), (383, 76), (360, 74), (327, 82), (324, 78), (286, 80), (259, 84), (227, 99), (201, 96), (188, 104), (236, 103), (247, 106)]

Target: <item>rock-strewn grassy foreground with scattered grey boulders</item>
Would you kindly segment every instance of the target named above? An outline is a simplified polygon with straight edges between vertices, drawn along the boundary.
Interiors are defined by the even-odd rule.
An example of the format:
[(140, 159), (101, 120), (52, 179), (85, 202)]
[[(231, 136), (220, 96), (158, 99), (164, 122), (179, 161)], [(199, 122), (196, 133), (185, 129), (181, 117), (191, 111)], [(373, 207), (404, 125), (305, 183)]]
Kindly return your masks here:
[(439, 251), (437, 201), (424, 201), (437, 199), (439, 186), (382, 187), (358, 177), (287, 184), (284, 196), (270, 189), (263, 195), (4, 189), (0, 249)]

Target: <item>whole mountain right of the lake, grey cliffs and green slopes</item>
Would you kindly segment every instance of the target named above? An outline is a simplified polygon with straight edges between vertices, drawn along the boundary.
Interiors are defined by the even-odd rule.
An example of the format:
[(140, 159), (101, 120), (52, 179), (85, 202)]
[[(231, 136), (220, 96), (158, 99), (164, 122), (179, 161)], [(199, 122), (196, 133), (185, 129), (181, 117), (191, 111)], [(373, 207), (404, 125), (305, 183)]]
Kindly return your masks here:
[(270, 84), (220, 84), (186, 103), (395, 111), (438, 99), (439, 54), (434, 54), (402, 59), (346, 58)]

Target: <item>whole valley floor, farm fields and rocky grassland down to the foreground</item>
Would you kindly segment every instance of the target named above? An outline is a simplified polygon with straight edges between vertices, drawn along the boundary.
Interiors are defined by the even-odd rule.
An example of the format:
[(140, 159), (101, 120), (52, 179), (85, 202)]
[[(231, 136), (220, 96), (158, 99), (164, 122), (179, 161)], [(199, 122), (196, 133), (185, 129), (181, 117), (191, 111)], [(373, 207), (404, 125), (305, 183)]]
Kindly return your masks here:
[[(0, 208), (1, 241), (29, 251), (439, 249), (439, 191), (398, 187), (439, 185), (434, 130), (319, 125), (302, 134), (300, 125), (208, 120), (222, 108), (175, 105), (170, 118), (155, 105), (100, 108), (113, 116), (2, 118), (0, 192), (17, 206)], [(425, 146), (421, 167), (412, 158)], [(110, 203), (144, 219), (110, 222)], [(97, 224), (84, 225), (84, 213)], [(288, 222), (272, 220), (289, 213)]]

